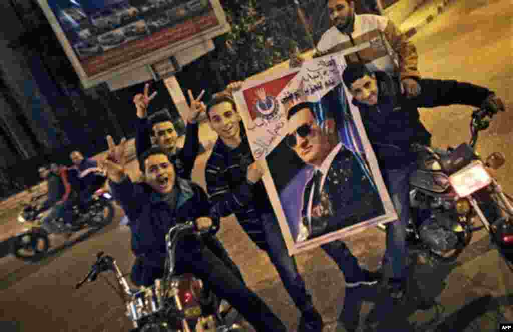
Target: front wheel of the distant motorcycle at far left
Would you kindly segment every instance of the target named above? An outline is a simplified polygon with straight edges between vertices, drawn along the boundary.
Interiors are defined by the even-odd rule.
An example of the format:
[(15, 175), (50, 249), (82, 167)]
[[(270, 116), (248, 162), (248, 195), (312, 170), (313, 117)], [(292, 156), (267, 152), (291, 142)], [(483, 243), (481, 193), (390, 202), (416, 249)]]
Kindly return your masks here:
[(48, 234), (42, 232), (27, 232), (14, 237), (11, 241), (12, 254), (23, 261), (42, 259), (49, 247)]

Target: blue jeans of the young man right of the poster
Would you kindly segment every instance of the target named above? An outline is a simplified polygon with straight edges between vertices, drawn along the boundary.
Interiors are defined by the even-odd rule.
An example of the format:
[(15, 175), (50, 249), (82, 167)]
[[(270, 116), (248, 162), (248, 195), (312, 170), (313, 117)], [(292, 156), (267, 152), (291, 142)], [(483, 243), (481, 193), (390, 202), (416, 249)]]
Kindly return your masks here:
[(410, 218), (410, 174), (417, 168), (411, 163), (400, 169), (382, 170), (385, 185), (399, 219), (387, 224), (385, 257), (392, 268), (392, 278), (405, 278), (406, 225)]

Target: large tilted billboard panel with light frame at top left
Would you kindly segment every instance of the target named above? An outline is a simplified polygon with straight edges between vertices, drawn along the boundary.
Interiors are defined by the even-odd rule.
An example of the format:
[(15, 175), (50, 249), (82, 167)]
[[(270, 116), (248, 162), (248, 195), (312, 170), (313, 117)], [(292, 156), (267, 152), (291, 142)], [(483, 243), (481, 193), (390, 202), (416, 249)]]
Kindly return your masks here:
[(84, 87), (229, 31), (219, 0), (37, 0)]

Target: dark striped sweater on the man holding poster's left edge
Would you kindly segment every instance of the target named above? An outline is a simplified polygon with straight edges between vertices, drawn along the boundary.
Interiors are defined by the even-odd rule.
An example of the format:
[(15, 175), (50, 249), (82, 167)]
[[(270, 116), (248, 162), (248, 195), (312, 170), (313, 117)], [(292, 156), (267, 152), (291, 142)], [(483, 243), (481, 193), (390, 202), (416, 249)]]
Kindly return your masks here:
[(260, 215), (273, 213), (262, 180), (255, 184), (247, 181), (246, 173), (254, 162), (249, 142), (241, 123), (242, 143), (230, 149), (219, 138), (205, 168), (207, 191), (215, 216), (235, 213), (242, 228), (262, 249), (266, 248)]

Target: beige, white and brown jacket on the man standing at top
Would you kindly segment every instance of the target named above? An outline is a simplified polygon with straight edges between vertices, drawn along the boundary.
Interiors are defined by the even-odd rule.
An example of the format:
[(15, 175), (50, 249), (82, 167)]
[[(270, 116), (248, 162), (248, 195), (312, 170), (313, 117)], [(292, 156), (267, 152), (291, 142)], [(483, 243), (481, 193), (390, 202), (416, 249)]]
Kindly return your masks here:
[[(321, 36), (315, 56), (354, 48), (348, 63), (363, 62), (371, 70), (399, 73), (401, 78), (420, 78), (415, 45), (386, 16), (361, 14), (354, 17), (354, 30), (342, 33), (332, 26)], [(354, 44), (353, 44), (354, 43)], [(314, 56), (314, 57), (315, 57)]]

